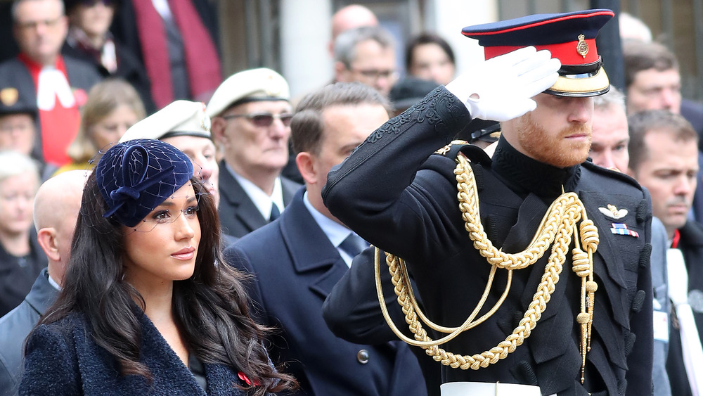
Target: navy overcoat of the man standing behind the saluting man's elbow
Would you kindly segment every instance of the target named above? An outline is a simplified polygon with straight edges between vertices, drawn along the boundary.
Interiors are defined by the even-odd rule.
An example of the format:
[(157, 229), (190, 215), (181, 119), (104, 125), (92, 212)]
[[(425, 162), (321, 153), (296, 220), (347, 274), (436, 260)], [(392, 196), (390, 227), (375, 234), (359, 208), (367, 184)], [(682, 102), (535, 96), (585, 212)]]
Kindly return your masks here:
[(297, 191), (276, 222), (225, 251), (228, 262), (254, 277), (252, 316), (280, 328), (269, 348), (273, 360), (287, 362), (305, 395), (425, 395), (407, 345), (349, 343), (325, 324), (323, 301), (349, 267), (305, 207), (303, 193)]

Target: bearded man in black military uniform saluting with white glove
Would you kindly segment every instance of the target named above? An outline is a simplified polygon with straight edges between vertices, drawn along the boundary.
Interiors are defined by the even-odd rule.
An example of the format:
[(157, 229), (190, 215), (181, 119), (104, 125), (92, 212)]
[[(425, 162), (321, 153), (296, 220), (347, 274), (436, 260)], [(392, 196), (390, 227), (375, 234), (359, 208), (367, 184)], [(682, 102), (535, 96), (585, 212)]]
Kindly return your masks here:
[[(453, 328), (415, 336), (444, 364), (442, 395), (652, 392), (650, 198), (585, 162), (591, 97), (609, 87), (595, 36), (612, 15), (467, 27), (489, 60), (330, 172), (330, 212), (407, 260), (431, 321), (469, 328), (441, 345)], [(502, 122), (493, 158), (441, 148), (475, 118)]]

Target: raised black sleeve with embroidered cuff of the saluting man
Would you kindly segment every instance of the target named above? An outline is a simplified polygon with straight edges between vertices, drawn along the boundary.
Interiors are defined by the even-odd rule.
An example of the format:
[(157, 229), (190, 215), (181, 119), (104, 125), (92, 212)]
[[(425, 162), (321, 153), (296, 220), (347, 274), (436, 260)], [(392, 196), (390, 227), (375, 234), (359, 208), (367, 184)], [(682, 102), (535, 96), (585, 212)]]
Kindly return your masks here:
[[(423, 162), (470, 120), (463, 103), (438, 87), (376, 129), (333, 168), (323, 189), (325, 205), (366, 241), (410, 260), (413, 247), (431, 244), (437, 239), (432, 233), (447, 228), (446, 216), (430, 212), (444, 210), (434, 201), (437, 191), (411, 183)], [(451, 170), (453, 160), (444, 160)], [(456, 187), (454, 191), (456, 196)], [(402, 232), (403, 238), (396, 232)]]

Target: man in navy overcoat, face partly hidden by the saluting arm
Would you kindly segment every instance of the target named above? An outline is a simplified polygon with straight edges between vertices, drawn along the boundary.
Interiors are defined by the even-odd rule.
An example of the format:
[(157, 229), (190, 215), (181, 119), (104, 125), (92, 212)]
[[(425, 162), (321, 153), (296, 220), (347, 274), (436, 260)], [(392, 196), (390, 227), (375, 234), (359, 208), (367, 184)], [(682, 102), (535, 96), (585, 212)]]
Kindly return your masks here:
[(306, 395), (425, 395), (407, 345), (349, 343), (322, 317), (328, 293), (368, 244), (330, 215), (320, 191), (330, 168), (386, 120), (387, 101), (363, 84), (330, 85), (306, 96), (291, 124), (305, 188), (278, 221), (226, 251), (228, 262), (252, 272), (253, 312), (280, 326), (272, 355), (288, 362)]

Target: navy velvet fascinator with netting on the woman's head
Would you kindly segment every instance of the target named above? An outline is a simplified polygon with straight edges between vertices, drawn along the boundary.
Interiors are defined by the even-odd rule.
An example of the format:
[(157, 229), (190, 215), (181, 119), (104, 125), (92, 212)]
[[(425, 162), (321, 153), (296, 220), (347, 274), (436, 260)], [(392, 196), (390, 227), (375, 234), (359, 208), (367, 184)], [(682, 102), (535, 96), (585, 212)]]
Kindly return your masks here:
[(193, 163), (169, 143), (134, 139), (106, 151), (95, 172), (103, 217), (133, 227), (191, 179)]

